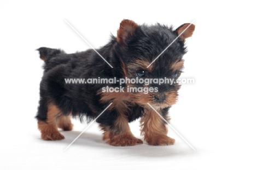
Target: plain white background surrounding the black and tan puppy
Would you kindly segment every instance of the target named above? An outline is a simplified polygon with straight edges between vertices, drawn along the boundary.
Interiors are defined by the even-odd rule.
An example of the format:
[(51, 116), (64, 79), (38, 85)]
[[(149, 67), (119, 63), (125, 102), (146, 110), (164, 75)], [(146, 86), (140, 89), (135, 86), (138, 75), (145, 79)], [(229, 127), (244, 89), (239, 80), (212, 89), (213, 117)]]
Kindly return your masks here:
[[(0, 1), (0, 169), (255, 169), (255, 5), (252, 1)], [(195, 20), (187, 40), (179, 102), (170, 110), (172, 146), (114, 147), (93, 124), (74, 121), (66, 139), (43, 141), (34, 116), (43, 61), (37, 48), (89, 49), (116, 35), (119, 23)], [(138, 122), (131, 124), (139, 138)]]

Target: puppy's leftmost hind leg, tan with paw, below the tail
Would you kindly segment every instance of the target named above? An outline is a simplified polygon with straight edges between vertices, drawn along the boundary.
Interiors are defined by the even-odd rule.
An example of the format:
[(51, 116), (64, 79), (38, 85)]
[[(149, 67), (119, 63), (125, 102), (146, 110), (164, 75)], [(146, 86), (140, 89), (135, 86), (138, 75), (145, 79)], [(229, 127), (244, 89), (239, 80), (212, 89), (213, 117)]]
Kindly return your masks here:
[(41, 138), (44, 140), (61, 140), (65, 137), (57, 130), (56, 117), (60, 115), (60, 109), (54, 104), (49, 104), (46, 113), (46, 120), (38, 120), (38, 128), (41, 131)]

